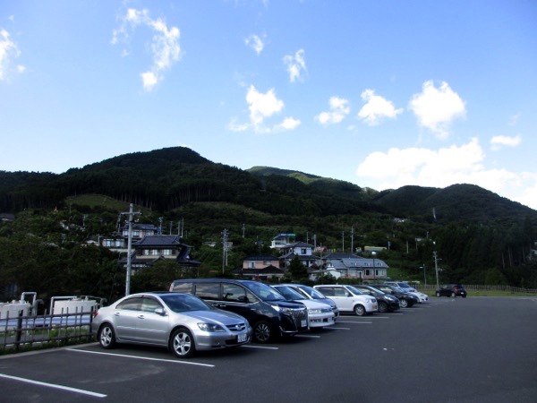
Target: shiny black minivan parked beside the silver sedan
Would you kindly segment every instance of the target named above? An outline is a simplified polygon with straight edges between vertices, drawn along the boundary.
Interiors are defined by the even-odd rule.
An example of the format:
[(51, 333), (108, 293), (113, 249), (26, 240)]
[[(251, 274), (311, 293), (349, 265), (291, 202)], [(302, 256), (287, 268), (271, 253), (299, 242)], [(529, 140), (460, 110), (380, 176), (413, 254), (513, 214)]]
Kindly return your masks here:
[(303, 304), (288, 302), (274, 288), (239, 279), (178, 279), (170, 291), (191, 293), (213, 306), (238, 313), (250, 322), (258, 343), (309, 330)]

